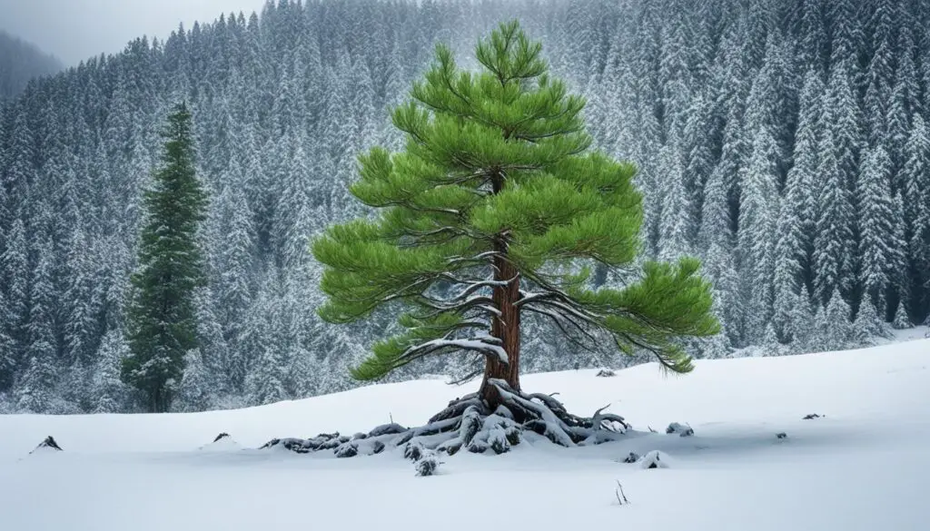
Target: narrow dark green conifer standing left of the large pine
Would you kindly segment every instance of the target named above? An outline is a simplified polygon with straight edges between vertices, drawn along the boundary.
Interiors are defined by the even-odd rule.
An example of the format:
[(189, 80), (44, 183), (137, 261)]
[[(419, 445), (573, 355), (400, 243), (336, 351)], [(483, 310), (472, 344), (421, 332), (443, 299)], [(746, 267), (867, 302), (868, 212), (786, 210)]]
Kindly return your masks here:
[(168, 116), (162, 136), (161, 166), (143, 198), (139, 265), (126, 314), (130, 353), (121, 374), (152, 412), (168, 410), (184, 355), (198, 347), (193, 295), (204, 282), (198, 228), (207, 202), (194, 172), (193, 123), (184, 103)]

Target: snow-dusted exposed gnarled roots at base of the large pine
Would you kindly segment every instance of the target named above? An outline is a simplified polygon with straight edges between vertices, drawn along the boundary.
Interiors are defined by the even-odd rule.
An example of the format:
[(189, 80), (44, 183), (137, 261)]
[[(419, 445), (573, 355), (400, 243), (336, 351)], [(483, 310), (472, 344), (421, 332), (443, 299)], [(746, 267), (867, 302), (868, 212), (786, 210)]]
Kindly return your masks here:
[(491, 411), (477, 393), (453, 400), (425, 426), (404, 428), (385, 424), (351, 437), (321, 433), (312, 439), (272, 439), (262, 448), (284, 447), (299, 454), (332, 450), (339, 458), (379, 454), (386, 447), (404, 447), (406, 458), (417, 460), (424, 450), (453, 455), (462, 448), (472, 453), (492, 450), (503, 454), (523, 440), (525, 431), (538, 433), (557, 445), (599, 445), (618, 439), (631, 428), (624, 418), (604, 413), (591, 418), (568, 413), (548, 394), (514, 391), (500, 379), (489, 380), (499, 392), (500, 405)]

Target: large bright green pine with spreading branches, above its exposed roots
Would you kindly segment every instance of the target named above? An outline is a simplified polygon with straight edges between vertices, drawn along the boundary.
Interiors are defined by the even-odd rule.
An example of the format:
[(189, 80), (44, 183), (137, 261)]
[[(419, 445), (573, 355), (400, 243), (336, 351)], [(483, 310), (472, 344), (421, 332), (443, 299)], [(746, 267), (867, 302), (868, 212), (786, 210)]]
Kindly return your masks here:
[(379, 217), (332, 226), (313, 243), (326, 266), (319, 312), (339, 324), (397, 311), (405, 332), (376, 343), (354, 378), (477, 354), (480, 396), (493, 410), (501, 380), (520, 391), (525, 312), (578, 347), (652, 352), (676, 372), (692, 368), (681, 339), (717, 333), (697, 259), (650, 262), (622, 289), (591, 288), (594, 267), (629, 268), (641, 252), (636, 167), (589, 149), (585, 101), (547, 73), (541, 49), (516, 21), (479, 42), (480, 72), (459, 70), (438, 46), (392, 115), (405, 150), (359, 157), (352, 194)]

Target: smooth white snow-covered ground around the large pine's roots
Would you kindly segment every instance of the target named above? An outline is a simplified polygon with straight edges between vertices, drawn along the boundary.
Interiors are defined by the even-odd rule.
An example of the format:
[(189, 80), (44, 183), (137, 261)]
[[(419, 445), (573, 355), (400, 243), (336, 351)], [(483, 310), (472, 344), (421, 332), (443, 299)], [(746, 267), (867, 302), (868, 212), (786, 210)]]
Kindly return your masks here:
[[(272, 437), (423, 423), (472, 386), (441, 380), (236, 411), (184, 415), (0, 417), (0, 529), (930, 529), (930, 340), (866, 350), (525, 377), (570, 411), (625, 416), (636, 433), (607, 445), (516, 446), (445, 458), (415, 477), (399, 452), (242, 447)], [(803, 420), (809, 413), (824, 418)], [(666, 435), (672, 421), (693, 437)], [(778, 432), (787, 438), (778, 439)], [(30, 450), (53, 435), (64, 452)], [(668, 454), (670, 468), (619, 462)], [(630, 504), (619, 506), (616, 482)]]

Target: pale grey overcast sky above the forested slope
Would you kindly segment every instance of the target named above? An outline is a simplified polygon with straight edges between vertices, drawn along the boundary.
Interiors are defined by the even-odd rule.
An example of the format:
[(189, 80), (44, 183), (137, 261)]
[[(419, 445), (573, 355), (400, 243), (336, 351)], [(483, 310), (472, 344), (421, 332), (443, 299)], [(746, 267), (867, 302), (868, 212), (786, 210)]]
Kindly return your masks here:
[(66, 65), (121, 51), (141, 35), (164, 38), (179, 22), (258, 11), (264, 0), (0, 0), (0, 30), (32, 42)]

